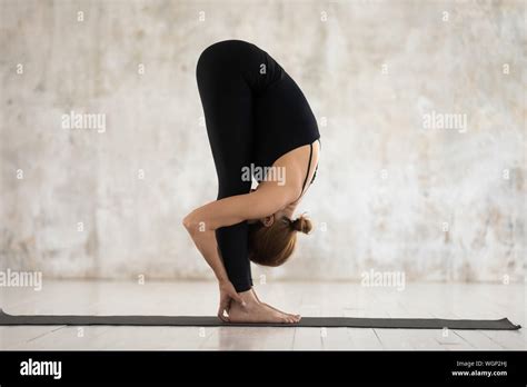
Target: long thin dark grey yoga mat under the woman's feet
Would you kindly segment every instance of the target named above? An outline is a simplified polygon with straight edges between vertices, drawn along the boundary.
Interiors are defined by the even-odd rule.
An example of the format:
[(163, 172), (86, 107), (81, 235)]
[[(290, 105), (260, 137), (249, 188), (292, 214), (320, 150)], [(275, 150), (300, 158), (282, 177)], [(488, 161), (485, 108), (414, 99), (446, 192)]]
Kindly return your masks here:
[(176, 327), (318, 327), (318, 328), (407, 328), (407, 329), (491, 329), (515, 330), (507, 318), (499, 320), (446, 320), (440, 318), (357, 318), (302, 317), (298, 324), (238, 324), (223, 322), (211, 316), (13, 316), (0, 309), (0, 325), (123, 325)]

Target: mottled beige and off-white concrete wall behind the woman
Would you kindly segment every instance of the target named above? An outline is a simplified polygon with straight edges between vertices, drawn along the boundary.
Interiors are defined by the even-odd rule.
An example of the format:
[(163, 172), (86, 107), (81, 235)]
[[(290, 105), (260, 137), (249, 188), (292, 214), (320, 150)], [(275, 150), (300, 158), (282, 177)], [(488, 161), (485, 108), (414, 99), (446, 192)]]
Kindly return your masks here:
[[(180, 226), (216, 195), (195, 67), (237, 38), (297, 80), (324, 141), (299, 209), (317, 228), (256, 280), (523, 276), (525, 2), (0, 0), (0, 14), (1, 268), (210, 278)], [(68, 127), (71, 111), (105, 121)]]

